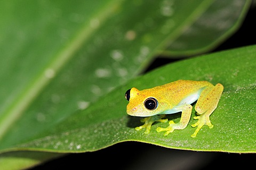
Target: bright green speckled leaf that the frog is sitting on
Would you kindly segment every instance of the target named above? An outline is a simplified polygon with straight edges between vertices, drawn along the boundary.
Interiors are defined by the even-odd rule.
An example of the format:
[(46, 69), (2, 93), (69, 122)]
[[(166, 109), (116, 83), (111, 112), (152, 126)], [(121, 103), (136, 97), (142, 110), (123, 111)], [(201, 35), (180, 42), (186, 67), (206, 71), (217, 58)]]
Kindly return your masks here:
[[(169, 64), (116, 88), (86, 110), (68, 117), (54, 130), (44, 132), (41, 137), (14, 145), (8, 150), (85, 152), (118, 142), (140, 141), (185, 150), (255, 153), (255, 53), (254, 45)], [(133, 86), (150, 88), (178, 79), (208, 80), (225, 87), (218, 108), (210, 117), (214, 127), (204, 126), (192, 138), (190, 135), (195, 128), (190, 125), (196, 120), (191, 118), (185, 129), (167, 136), (157, 133), (155, 129), (168, 123), (154, 124), (150, 134), (143, 134), (143, 130), (135, 131), (134, 127), (141, 123), (138, 117), (127, 116), (125, 91)], [(178, 122), (179, 117), (180, 114), (169, 116), (174, 122)]]

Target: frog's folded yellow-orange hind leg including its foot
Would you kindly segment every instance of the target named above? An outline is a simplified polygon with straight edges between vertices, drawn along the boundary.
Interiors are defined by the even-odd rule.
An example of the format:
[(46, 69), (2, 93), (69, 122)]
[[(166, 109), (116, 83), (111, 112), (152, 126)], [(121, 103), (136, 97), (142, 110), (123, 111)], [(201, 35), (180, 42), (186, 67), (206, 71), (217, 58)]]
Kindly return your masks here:
[(199, 116), (195, 116), (194, 119), (198, 119), (198, 121), (195, 124), (191, 125), (192, 127), (197, 126), (197, 129), (194, 134), (191, 135), (191, 137), (196, 137), (196, 134), (204, 125), (207, 125), (210, 128), (213, 127), (209, 117), (212, 112), (217, 108), (222, 91), (223, 86), (221, 84), (206, 87), (202, 91), (195, 106), (195, 110)]

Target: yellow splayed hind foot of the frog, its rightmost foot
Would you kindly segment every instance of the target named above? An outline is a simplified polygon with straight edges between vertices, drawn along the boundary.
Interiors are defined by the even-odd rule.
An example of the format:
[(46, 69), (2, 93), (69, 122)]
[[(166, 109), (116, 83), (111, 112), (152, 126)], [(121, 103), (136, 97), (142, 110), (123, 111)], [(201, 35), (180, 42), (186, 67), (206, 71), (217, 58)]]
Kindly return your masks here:
[(209, 128), (213, 128), (213, 125), (211, 124), (211, 120), (209, 118), (209, 115), (207, 114), (202, 114), (200, 116), (195, 116), (194, 119), (198, 119), (198, 121), (191, 125), (192, 127), (196, 127), (196, 131), (191, 135), (191, 137), (196, 137), (196, 134), (199, 132), (199, 130), (204, 126), (207, 125)]

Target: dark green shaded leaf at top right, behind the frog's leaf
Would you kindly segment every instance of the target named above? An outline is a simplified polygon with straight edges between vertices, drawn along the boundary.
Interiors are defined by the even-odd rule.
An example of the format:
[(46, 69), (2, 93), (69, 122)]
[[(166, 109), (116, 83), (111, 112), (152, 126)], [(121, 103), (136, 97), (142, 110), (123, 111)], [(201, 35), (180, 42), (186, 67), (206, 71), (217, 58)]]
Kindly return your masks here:
[(250, 5), (250, 1), (213, 2), (193, 25), (163, 49), (162, 55), (193, 55), (209, 51), (240, 27)]

